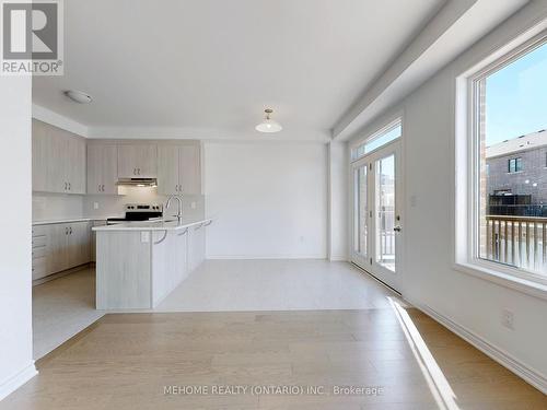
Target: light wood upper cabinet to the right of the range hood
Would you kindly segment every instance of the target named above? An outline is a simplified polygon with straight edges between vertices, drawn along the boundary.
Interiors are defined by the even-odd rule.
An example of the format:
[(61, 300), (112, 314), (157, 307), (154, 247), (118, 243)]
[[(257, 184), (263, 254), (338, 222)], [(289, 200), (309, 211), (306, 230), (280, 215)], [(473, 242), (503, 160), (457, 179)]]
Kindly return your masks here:
[(158, 192), (201, 194), (201, 150), (199, 143), (158, 147)]

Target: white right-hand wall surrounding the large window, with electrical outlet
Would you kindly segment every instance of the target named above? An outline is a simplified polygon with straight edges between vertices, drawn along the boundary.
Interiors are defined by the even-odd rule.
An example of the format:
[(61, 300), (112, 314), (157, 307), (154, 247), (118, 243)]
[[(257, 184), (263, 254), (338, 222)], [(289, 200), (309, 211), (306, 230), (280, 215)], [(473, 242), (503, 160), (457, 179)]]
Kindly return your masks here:
[[(452, 221), (455, 78), (546, 16), (545, 2), (524, 8), (382, 115), (385, 119), (404, 112), (404, 296), (513, 358), (538, 384), (547, 380), (547, 301), (455, 270)], [(382, 125), (382, 119), (373, 121), (363, 134)], [(411, 197), (416, 199), (414, 206)], [(514, 330), (501, 326), (504, 308), (514, 312)]]

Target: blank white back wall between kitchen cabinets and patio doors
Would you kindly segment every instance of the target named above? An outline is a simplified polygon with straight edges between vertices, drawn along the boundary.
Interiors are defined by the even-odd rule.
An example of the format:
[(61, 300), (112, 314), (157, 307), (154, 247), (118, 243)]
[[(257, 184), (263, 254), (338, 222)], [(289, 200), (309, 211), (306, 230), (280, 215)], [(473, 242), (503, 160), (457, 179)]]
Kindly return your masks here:
[(206, 142), (209, 258), (325, 258), (323, 143)]

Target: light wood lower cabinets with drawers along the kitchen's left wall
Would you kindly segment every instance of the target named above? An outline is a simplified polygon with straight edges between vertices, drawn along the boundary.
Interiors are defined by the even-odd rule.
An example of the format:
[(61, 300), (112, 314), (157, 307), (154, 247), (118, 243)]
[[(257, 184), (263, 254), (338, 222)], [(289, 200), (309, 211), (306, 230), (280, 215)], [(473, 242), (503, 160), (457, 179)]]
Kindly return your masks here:
[(91, 223), (33, 226), (33, 280), (91, 261)]

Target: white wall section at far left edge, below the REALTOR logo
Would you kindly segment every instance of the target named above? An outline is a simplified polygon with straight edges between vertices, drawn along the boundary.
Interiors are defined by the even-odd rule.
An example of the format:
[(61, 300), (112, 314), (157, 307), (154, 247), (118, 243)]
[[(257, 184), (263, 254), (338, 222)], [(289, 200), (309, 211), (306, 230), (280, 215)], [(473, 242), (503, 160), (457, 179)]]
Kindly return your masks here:
[(36, 374), (31, 291), (31, 79), (0, 77), (0, 399)]

